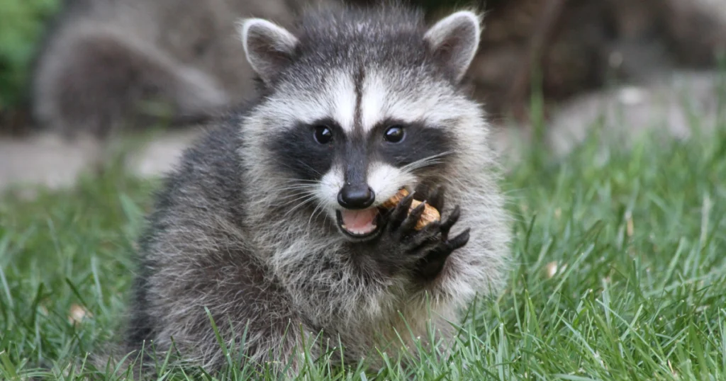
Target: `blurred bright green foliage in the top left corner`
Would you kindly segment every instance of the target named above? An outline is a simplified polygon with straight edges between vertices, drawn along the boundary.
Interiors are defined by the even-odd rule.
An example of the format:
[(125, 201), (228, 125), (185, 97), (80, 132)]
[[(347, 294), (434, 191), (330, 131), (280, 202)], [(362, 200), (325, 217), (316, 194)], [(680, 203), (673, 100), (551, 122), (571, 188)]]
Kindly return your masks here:
[(0, 0), (0, 111), (23, 99), (30, 63), (59, 0)]

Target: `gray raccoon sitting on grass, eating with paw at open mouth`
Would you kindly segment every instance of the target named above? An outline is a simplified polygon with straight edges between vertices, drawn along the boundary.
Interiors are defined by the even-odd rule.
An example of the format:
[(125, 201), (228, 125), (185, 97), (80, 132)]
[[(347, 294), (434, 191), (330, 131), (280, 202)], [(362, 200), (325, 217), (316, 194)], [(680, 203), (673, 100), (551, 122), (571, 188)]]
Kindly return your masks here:
[[(501, 290), (510, 242), (489, 125), (462, 87), (480, 22), (460, 10), (428, 25), (394, 5), (240, 21), (260, 96), (168, 175), (127, 348), (219, 369), (210, 317), (247, 364), (292, 374), (303, 343), (370, 366), (371, 351), (405, 353), (400, 340), (447, 343), (476, 295)], [(416, 230), (425, 205), (441, 220)]]

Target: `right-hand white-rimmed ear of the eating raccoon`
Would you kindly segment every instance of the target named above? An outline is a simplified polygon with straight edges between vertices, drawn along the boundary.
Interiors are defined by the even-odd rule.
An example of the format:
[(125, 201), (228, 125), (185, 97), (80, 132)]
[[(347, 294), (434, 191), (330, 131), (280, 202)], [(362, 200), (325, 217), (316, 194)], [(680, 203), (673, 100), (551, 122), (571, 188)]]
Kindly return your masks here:
[(479, 47), (481, 17), (470, 11), (454, 12), (436, 22), (424, 35), (442, 65), (461, 81)]

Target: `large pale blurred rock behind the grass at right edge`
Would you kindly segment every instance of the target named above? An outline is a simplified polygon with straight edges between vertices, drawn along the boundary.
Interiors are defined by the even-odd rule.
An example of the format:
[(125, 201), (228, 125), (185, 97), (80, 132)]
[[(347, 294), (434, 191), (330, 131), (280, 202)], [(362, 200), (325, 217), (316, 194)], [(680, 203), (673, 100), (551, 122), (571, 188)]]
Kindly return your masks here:
[[(547, 144), (564, 156), (595, 128), (608, 143), (623, 147), (656, 131), (665, 139), (688, 139), (709, 133), (726, 121), (726, 76), (677, 72), (640, 86), (583, 95), (560, 105), (547, 123)], [(609, 142), (608, 142), (609, 141)]]

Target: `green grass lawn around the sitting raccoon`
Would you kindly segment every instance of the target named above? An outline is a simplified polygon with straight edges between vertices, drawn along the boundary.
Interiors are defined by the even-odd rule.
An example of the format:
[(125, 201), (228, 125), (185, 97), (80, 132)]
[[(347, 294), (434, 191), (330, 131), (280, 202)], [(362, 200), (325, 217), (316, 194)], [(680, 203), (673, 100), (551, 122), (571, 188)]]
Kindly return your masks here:
[[(655, 142), (597, 163), (593, 142), (563, 163), (535, 150), (510, 173), (515, 267), (500, 298), (475, 303), (451, 358), (391, 359), (379, 374), (311, 362), (304, 379), (725, 380), (726, 133)], [(157, 186), (114, 173), (0, 199), (2, 380), (81, 380), (91, 370), (69, 364), (113, 335)], [(92, 316), (71, 324), (74, 305)]]

